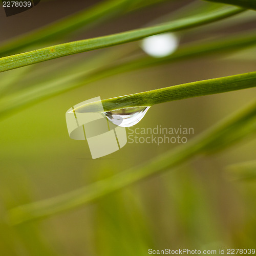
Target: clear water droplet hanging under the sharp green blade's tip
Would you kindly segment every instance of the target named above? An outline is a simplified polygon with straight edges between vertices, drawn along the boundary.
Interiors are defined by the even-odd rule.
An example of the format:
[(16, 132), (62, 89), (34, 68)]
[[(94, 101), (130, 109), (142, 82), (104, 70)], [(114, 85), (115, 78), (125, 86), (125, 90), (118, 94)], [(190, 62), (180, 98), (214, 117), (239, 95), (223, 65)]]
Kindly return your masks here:
[(138, 123), (150, 109), (150, 106), (136, 106), (104, 112), (106, 117), (114, 124), (121, 127), (130, 127)]

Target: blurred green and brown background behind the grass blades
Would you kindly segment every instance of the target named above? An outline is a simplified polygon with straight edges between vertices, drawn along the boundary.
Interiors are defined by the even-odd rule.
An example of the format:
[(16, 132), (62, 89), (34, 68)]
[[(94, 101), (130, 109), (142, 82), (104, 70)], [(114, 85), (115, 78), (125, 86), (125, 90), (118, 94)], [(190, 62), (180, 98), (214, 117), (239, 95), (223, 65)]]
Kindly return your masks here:
[[(193, 1), (166, 1), (79, 30), (48, 45), (145, 26)], [(200, 2), (194, 1), (194, 2)], [(89, 8), (96, 1), (43, 1), (5, 17), (0, 9), (4, 41), (54, 20)], [(239, 24), (206, 25), (179, 34), (180, 44), (211, 40), (255, 28), (256, 14), (240, 14)], [(239, 15), (238, 15), (239, 16)], [(249, 18), (248, 18), (249, 17)], [(224, 24), (224, 23), (223, 23)], [(135, 47), (140, 42), (130, 43)], [(46, 44), (47, 45), (47, 44)], [(114, 49), (115, 48), (115, 49)], [(122, 51), (123, 46), (42, 62), (28, 68), (8, 93), (28, 81), (65, 75), (62, 65)], [(42, 100), (1, 120), (0, 126), (0, 255), (147, 255), (148, 249), (255, 248), (255, 181), (233, 181), (230, 164), (255, 160), (255, 135), (217, 152), (199, 156), (170, 172), (127, 187), (97, 202), (45, 220), (8, 224), (7, 211), (51, 198), (123, 172), (177, 144), (126, 144), (121, 150), (91, 159), (87, 142), (69, 138), (66, 111), (81, 101), (168, 87), (190, 81), (255, 71), (255, 48), (239, 53), (194, 58), (119, 74)], [(136, 54), (144, 54), (140, 48)], [(25, 68), (22, 68), (25, 69)], [(56, 69), (56, 70), (55, 70)], [(18, 70), (0, 74), (0, 82)], [(7, 78), (6, 78), (7, 77)], [(191, 98), (153, 106), (136, 127), (193, 127), (196, 136), (255, 99), (255, 89)], [(189, 136), (189, 139), (193, 136)], [(254, 246), (254, 247), (253, 247)]]

